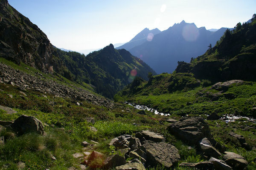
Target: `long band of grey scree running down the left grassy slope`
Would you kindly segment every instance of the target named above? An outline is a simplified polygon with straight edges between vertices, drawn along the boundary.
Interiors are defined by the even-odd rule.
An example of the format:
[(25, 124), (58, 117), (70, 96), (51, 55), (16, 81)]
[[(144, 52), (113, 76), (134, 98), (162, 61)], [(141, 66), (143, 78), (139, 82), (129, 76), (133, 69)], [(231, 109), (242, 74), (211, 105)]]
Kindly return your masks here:
[[(85, 89), (78, 88), (72, 84), (70, 84), (70, 86), (59, 84), (45, 78), (40, 73), (33, 76), (0, 63), (0, 83), (10, 84), (11, 82), (24, 91), (26, 89), (33, 89), (42, 93), (50, 93), (56, 97), (72, 98), (75, 101), (86, 101), (96, 105), (102, 105), (110, 108), (113, 107), (113, 102), (111, 100), (94, 95)], [(92, 119), (89, 121), (93, 123)]]

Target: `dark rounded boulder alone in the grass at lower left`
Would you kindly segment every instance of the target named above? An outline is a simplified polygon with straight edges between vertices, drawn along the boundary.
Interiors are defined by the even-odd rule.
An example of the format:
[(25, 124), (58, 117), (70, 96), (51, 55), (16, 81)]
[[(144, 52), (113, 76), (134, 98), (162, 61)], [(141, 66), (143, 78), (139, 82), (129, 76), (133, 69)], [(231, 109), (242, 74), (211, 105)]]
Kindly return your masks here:
[(36, 132), (44, 135), (44, 125), (33, 116), (21, 115), (14, 121), (11, 127), (18, 135), (28, 132)]

